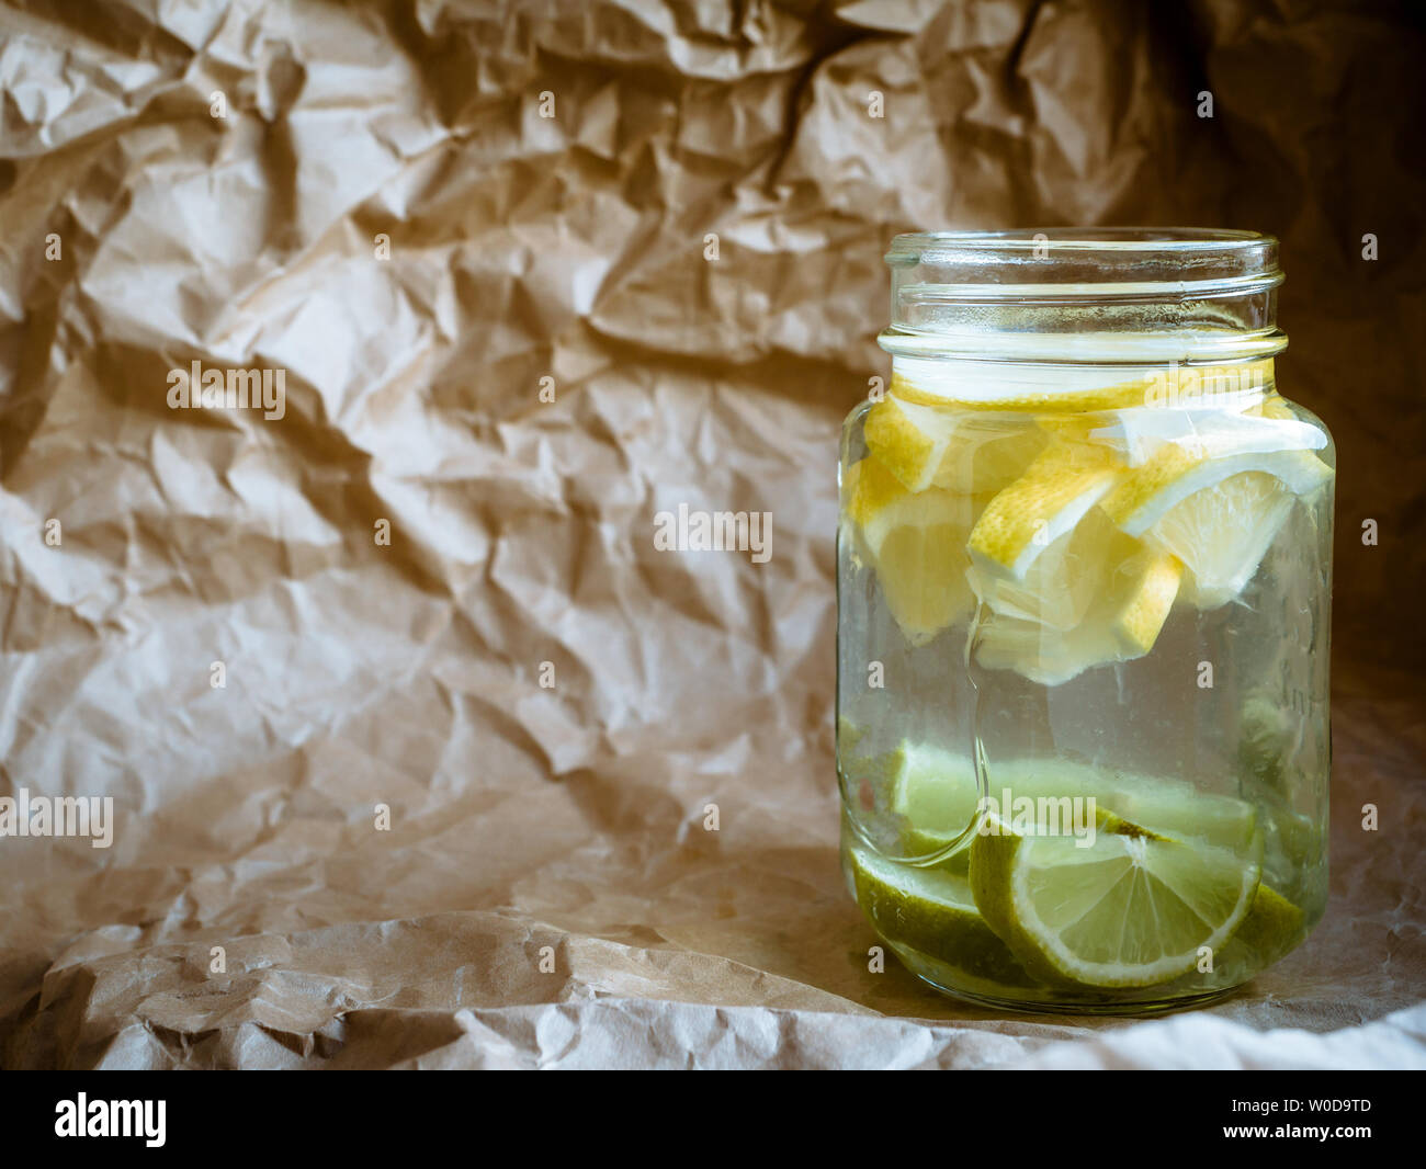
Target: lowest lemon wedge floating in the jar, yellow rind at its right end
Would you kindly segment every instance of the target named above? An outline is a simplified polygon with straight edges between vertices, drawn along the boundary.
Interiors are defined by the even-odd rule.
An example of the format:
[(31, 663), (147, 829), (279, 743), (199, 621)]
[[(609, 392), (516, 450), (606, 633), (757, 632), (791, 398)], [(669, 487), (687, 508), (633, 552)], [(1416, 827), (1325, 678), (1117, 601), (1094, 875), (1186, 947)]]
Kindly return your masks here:
[(1101, 587), (1098, 599), (1068, 630), (991, 612), (977, 630), (975, 660), (1041, 686), (1060, 686), (1095, 666), (1144, 657), (1174, 607), (1182, 565), (1174, 556), (1139, 549), (1092, 579)]

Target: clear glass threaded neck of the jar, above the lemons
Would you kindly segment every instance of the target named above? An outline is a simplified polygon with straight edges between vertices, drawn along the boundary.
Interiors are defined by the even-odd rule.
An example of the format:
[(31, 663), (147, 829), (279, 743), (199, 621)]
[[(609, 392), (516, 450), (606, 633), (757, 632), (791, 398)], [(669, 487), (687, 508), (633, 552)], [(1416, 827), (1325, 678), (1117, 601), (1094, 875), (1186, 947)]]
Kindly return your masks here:
[(894, 362), (1165, 368), (1282, 352), (1278, 245), (1205, 228), (1048, 228), (898, 235)]

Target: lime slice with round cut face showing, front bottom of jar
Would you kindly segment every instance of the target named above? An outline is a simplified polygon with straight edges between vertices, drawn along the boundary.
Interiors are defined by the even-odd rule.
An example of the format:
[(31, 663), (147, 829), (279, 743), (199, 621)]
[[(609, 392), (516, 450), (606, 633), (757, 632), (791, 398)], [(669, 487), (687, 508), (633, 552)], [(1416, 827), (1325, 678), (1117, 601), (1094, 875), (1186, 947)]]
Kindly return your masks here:
[(1084, 987), (1152, 987), (1195, 969), (1248, 915), (1259, 864), (1101, 810), (1094, 843), (1017, 835), (1000, 818), (971, 847), (985, 924), (1027, 971)]

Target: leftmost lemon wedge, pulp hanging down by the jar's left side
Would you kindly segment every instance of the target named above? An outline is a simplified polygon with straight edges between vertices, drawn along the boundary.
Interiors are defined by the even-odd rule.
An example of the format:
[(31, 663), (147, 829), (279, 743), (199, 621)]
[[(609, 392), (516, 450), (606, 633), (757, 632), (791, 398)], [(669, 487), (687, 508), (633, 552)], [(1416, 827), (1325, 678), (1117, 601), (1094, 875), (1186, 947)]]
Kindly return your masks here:
[(913, 646), (970, 613), (968, 500), (937, 488), (910, 492), (873, 456), (847, 468), (843, 490), (887, 609)]

